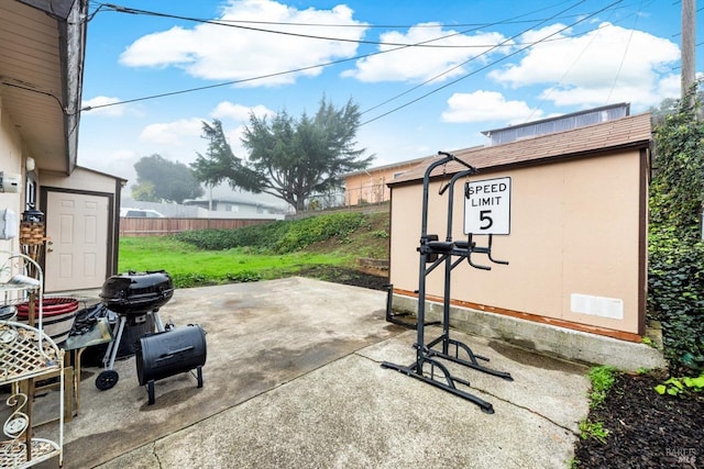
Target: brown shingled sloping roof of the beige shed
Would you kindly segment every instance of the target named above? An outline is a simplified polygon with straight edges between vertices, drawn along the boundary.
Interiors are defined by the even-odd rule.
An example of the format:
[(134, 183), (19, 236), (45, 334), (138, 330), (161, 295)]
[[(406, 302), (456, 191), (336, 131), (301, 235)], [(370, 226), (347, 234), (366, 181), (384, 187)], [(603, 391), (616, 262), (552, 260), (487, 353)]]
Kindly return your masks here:
[[(626, 148), (647, 148), (650, 137), (650, 113), (645, 113), (503, 145), (465, 148), (451, 153), (480, 170), (488, 170), (596, 156)], [(426, 168), (438, 157), (428, 157), (388, 186), (422, 179)], [(441, 176), (443, 172), (452, 175), (466, 169), (457, 161), (450, 161), (444, 166), (433, 169), (430, 176)]]

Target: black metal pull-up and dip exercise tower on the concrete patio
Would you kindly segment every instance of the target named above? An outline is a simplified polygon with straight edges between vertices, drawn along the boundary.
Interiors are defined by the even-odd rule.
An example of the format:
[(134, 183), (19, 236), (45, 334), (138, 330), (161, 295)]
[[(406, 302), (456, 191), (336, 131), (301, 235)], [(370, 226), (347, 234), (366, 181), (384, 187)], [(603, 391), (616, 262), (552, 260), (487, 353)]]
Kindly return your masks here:
[[(487, 368), (479, 362), (479, 360), (488, 361), (488, 358), (475, 355), (472, 349), (464, 343), (450, 338), (450, 279), (452, 270), (466, 259), (468, 264), (474, 268), (490, 270), (491, 267), (475, 264), (472, 260), (472, 254), (486, 255), (490, 261), (494, 264), (507, 265), (505, 260), (497, 260), (492, 257), (492, 241), (493, 235), (488, 235), (488, 243), (485, 247), (476, 246), (476, 243), (472, 239), (470, 234), (468, 241), (452, 241), (452, 209), (454, 198), (454, 185), (460, 178), (464, 178), (476, 174), (476, 169), (471, 165), (457, 158), (449, 153), (439, 152), (443, 158), (432, 163), (426, 169), (424, 176), (422, 186), (422, 222), (420, 233), (420, 246), (418, 252), (420, 253), (420, 268), (418, 280), (418, 325), (426, 325), (426, 277), (433, 271), (438, 266), (444, 264), (444, 292), (443, 292), (443, 310), (442, 310), (442, 334), (426, 344), (425, 327), (416, 327), (418, 337), (414, 347), (416, 348), (416, 361), (409, 366), (402, 366), (384, 361), (383, 368), (394, 369), (403, 372), (411, 378), (419, 379), (424, 382), (432, 384), (437, 388), (451, 392), (460, 398), (466, 399), (481, 407), (485, 413), (493, 414), (494, 407), (491, 403), (470, 394), (463, 390), (457, 388), (455, 383), (470, 386), (470, 382), (454, 377), (450, 373), (450, 370), (436, 358), (443, 358), (453, 361), (459, 365), (463, 365), (469, 368), (473, 368), (479, 371), (490, 373), (506, 380), (512, 380), (510, 373), (505, 371), (497, 371)], [(455, 174), (450, 182), (440, 189), (440, 196), (442, 196), (449, 189), (448, 200), (448, 227), (446, 241), (438, 241), (437, 235), (428, 234), (428, 187), (430, 183), (430, 174), (432, 170), (441, 165), (447, 165), (449, 161), (457, 161), (468, 169)], [(453, 260), (453, 256), (457, 259)], [(430, 266), (428, 267), (428, 264)], [(389, 298), (391, 298), (389, 292)], [(389, 319), (389, 303), (387, 300), (387, 321)], [(440, 349), (433, 348), (440, 346)], [(454, 354), (451, 354), (451, 347), (453, 347)], [(460, 350), (464, 351), (468, 358), (460, 358)], [(429, 366), (429, 372), (424, 370), (424, 367)], [(436, 378), (436, 369), (440, 371), (441, 377)]]

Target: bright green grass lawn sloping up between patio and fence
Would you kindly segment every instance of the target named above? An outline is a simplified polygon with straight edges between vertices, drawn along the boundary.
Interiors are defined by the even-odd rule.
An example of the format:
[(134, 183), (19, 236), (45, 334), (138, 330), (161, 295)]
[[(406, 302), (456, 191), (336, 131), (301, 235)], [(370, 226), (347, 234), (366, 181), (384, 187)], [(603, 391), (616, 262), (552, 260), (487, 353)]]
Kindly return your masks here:
[[(321, 215), (285, 223), (240, 228), (238, 234), (242, 236), (235, 236), (240, 244), (223, 242), (235, 233), (218, 231), (189, 232), (185, 241), (174, 236), (123, 237), (120, 238), (118, 271), (166, 270), (175, 287), (188, 288), (268, 280), (299, 272), (310, 275), (311, 271), (330, 271), (329, 268), (354, 270), (355, 261), (361, 257), (388, 259), (387, 212)], [(250, 236), (245, 236), (248, 233)], [(252, 239), (257, 243), (245, 244)], [(301, 239), (316, 242), (284, 250), (286, 254), (273, 254), (282, 239), (294, 246)], [(223, 245), (239, 247), (215, 247)]]

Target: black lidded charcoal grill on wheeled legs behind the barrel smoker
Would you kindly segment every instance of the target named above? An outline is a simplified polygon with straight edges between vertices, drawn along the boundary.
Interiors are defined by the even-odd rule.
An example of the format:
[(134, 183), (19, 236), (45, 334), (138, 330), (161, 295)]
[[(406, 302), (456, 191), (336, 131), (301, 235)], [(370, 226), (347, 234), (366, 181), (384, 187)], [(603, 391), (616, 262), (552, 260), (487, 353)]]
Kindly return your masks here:
[(105, 370), (96, 378), (96, 387), (100, 390), (111, 389), (120, 378), (113, 369), (124, 326), (144, 324), (148, 316), (153, 319), (157, 332), (164, 331), (158, 316), (158, 309), (166, 304), (174, 294), (174, 282), (165, 270), (133, 272), (112, 276), (102, 284), (100, 299), (102, 303), (119, 315), (113, 336), (102, 359)]

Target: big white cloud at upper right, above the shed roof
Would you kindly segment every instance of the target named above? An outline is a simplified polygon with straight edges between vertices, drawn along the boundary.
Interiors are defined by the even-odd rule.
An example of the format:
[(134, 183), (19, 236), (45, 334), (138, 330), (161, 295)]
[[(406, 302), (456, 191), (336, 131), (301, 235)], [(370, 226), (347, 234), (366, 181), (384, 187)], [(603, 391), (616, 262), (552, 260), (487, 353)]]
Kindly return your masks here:
[[(532, 42), (556, 31), (549, 26), (526, 34)], [(602, 23), (578, 37), (562, 34), (531, 47), (519, 64), (490, 74), (514, 88), (549, 85), (541, 98), (558, 105), (601, 105), (628, 101), (657, 104), (660, 80), (680, 58), (676, 44), (637, 30)]]

